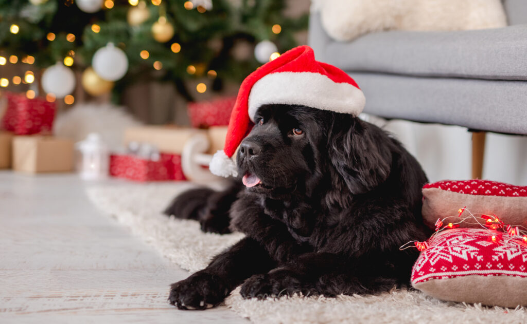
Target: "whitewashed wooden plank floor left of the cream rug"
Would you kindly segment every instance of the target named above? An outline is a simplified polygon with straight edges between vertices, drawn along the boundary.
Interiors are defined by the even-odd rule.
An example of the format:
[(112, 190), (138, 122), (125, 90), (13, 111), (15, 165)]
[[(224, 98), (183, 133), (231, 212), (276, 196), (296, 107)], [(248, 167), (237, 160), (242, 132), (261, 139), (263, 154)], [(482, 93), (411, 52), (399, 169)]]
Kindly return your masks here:
[(0, 323), (248, 323), (168, 305), (187, 276), (101, 215), (75, 175), (0, 171)]

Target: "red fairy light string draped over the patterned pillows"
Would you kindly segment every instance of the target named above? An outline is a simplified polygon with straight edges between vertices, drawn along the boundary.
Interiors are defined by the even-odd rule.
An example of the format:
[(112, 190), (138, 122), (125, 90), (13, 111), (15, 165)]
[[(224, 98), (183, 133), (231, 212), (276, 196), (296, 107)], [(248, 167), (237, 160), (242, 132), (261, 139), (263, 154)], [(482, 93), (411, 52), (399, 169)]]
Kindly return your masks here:
[[(465, 215), (463, 218), (461, 218), (461, 215), (464, 212), (467, 212), (470, 215)], [(439, 234), (440, 232), (448, 229), (454, 229), (461, 226), (462, 223), (465, 223), (466, 225), (477, 225), (481, 226), (482, 228), (489, 231), (489, 240), (491, 242), (494, 242), (496, 244), (508, 244), (509, 242), (512, 242), (517, 245), (523, 245), (527, 244), (527, 228), (523, 226), (512, 226), (510, 224), (505, 225), (504, 222), (497, 217), (495, 214), (492, 215), (486, 215), (486, 214), (475, 214), (480, 215), (480, 217), (476, 217), (469, 209), (466, 209), (466, 206), (463, 208), (460, 208), (457, 210), (458, 214), (457, 217), (455, 216), (447, 216), (443, 219), (438, 218), (435, 222), (435, 232), (432, 234), (430, 238), (428, 238), (426, 241), (409, 241), (403, 246), (401, 246), (399, 249), (404, 250), (407, 248), (415, 247), (419, 251), (424, 251), (428, 249), (428, 244), (431, 242), (434, 237)], [(450, 221), (452, 218), (455, 219), (455, 221)], [(483, 219), (484, 221), (482, 221)], [(448, 220), (448, 222), (446, 222)], [(444, 226), (446, 222), (446, 225)], [(467, 226), (471, 227), (471, 226)], [(507, 233), (509, 235), (503, 236), (501, 233)], [(410, 245), (413, 243), (413, 246)]]

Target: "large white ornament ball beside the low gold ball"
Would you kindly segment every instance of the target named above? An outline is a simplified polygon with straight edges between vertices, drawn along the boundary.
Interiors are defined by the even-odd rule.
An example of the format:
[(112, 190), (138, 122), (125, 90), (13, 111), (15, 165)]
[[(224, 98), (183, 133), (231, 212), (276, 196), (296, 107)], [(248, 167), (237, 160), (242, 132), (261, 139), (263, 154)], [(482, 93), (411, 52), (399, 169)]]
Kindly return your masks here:
[(92, 58), (92, 66), (101, 78), (116, 81), (128, 71), (128, 58), (122, 49), (108, 43), (105, 47), (97, 49)]

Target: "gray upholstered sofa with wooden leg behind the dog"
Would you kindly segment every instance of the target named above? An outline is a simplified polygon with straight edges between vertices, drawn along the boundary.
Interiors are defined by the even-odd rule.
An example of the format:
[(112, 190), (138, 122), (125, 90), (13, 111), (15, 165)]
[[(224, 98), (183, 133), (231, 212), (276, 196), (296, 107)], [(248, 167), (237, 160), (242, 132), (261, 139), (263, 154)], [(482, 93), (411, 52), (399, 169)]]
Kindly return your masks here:
[(357, 81), (365, 113), (480, 131), (473, 135), (473, 177), (481, 178), (483, 131), (527, 135), (527, 1), (504, 6), (504, 28), (388, 31), (352, 42), (331, 39), (313, 13), (308, 43), (317, 60)]

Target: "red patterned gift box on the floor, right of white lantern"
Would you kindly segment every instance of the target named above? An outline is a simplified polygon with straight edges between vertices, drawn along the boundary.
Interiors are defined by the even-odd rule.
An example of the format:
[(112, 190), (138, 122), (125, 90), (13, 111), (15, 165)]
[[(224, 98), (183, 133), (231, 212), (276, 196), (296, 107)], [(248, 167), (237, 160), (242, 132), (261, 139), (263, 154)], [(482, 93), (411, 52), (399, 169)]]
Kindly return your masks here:
[(133, 155), (111, 155), (110, 175), (135, 181), (186, 180), (181, 156), (164, 153), (158, 161)]

